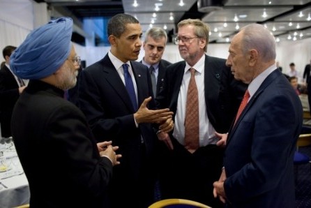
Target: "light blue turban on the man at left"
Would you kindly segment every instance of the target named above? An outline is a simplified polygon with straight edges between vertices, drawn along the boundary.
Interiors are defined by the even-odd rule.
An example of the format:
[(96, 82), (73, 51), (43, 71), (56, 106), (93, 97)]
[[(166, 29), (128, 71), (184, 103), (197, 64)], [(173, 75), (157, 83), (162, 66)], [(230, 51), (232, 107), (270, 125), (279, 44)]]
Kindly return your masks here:
[(22, 79), (39, 80), (52, 75), (71, 51), (73, 20), (61, 17), (34, 29), (10, 56), (10, 68)]

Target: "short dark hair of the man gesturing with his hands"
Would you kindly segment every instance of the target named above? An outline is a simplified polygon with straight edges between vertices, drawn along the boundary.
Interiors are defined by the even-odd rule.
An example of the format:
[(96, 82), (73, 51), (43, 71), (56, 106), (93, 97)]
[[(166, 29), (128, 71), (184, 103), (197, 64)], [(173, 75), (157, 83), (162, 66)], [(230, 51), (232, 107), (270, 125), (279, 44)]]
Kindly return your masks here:
[(108, 36), (120, 36), (126, 31), (126, 24), (139, 24), (139, 21), (128, 14), (114, 15), (108, 22), (107, 33)]

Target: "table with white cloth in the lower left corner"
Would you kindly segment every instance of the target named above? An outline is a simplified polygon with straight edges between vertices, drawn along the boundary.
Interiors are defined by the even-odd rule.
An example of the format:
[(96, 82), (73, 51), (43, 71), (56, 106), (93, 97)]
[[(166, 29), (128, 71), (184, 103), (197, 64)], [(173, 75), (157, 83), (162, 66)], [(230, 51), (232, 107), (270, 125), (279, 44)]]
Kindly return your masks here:
[[(0, 144), (3, 145), (3, 144)], [(6, 143), (0, 152), (0, 207), (17, 207), (28, 204), (29, 184), (15, 151), (13, 142)]]

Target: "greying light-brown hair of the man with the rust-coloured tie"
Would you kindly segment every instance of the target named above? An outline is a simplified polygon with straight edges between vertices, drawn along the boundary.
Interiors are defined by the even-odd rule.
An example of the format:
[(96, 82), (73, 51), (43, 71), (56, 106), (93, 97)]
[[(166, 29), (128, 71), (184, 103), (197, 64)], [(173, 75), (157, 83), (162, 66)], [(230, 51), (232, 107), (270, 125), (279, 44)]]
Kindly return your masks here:
[(207, 50), (207, 44), (208, 44), (208, 37), (209, 37), (209, 27), (206, 23), (202, 22), (199, 19), (187, 19), (187, 20), (181, 20), (179, 24), (177, 24), (177, 27), (183, 27), (185, 25), (192, 24), (195, 26), (195, 35), (199, 38), (203, 38), (206, 40), (206, 45), (204, 47), (204, 51)]

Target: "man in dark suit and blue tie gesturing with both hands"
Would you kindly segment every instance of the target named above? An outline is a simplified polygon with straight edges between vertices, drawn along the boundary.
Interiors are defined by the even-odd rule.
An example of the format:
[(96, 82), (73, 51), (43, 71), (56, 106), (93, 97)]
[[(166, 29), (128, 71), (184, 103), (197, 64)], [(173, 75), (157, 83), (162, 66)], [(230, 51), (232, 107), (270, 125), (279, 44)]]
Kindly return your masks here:
[(118, 14), (107, 25), (111, 49), (82, 70), (79, 107), (98, 141), (120, 147), (121, 165), (109, 186), (111, 207), (146, 208), (154, 200), (155, 142), (151, 124), (172, 130), (172, 112), (155, 108), (148, 68), (135, 61), (142, 47), (142, 27), (135, 17)]

